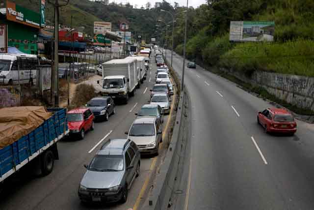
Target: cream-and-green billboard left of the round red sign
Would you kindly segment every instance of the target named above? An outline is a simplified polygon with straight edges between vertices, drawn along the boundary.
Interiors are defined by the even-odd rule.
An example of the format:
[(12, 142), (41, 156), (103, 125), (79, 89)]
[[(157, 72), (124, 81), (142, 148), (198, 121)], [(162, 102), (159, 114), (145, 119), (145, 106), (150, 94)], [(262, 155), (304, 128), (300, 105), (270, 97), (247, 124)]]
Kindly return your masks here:
[(94, 45), (110, 46), (110, 39), (105, 38), (107, 30), (111, 31), (110, 22), (94, 22)]

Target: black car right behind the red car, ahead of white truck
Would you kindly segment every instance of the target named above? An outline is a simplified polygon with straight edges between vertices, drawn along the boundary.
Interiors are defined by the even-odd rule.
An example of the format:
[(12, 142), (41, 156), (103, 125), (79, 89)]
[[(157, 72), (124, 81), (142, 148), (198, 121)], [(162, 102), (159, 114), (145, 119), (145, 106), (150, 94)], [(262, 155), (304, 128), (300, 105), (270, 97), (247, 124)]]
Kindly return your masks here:
[(88, 107), (93, 114), (95, 119), (105, 119), (109, 120), (109, 116), (115, 114), (115, 104), (111, 97), (95, 97), (87, 102), (86, 107)]

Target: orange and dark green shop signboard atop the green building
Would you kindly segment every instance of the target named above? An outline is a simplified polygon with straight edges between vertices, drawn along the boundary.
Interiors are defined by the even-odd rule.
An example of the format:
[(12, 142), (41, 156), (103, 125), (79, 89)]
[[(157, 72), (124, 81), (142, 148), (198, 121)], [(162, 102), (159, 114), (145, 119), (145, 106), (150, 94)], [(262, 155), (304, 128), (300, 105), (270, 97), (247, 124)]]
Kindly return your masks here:
[(40, 28), (40, 14), (19, 6), (14, 2), (6, 2), (6, 19), (37, 29)]

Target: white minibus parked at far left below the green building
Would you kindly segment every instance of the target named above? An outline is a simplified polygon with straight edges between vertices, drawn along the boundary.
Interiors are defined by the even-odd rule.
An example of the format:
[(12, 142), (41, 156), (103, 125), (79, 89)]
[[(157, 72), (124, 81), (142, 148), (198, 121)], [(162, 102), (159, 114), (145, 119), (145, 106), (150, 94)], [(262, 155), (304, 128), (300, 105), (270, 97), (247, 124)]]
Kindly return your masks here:
[(36, 85), (38, 65), (39, 60), (36, 55), (0, 53), (0, 83)]

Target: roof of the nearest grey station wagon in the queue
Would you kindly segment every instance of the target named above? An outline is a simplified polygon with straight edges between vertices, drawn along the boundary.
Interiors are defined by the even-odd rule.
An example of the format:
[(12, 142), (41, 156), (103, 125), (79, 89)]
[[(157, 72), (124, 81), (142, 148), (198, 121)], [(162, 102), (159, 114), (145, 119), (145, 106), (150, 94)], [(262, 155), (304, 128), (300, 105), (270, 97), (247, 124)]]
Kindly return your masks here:
[(117, 155), (123, 154), (126, 149), (126, 145), (129, 144), (130, 140), (127, 139), (111, 139), (97, 152), (100, 155)]

